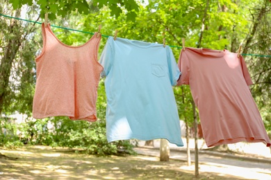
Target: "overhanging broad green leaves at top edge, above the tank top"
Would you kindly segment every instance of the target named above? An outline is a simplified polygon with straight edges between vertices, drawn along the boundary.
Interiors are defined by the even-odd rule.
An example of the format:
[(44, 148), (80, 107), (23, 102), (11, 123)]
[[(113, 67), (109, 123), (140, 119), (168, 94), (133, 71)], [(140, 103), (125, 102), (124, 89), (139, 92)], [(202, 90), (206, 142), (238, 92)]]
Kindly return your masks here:
[[(14, 9), (22, 8), (24, 4), (33, 6), (32, 0), (9, 0)], [(134, 21), (136, 19), (136, 12), (139, 11), (139, 6), (135, 0), (110, 0), (110, 1), (87, 1), (87, 0), (37, 0), (35, 4), (40, 8), (40, 15), (48, 12), (48, 18), (55, 20), (57, 16), (66, 17), (72, 12), (79, 12), (79, 14), (88, 15), (95, 7), (103, 8), (108, 6), (111, 10), (110, 15), (119, 17), (122, 12), (126, 12), (127, 20)]]

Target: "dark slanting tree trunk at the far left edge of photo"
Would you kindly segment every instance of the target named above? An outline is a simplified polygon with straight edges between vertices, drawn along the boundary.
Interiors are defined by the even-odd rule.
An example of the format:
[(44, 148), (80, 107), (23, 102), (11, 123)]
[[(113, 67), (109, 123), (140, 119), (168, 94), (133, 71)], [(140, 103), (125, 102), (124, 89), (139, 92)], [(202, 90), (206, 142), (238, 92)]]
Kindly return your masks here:
[[(15, 17), (18, 17), (20, 10), (16, 10)], [(10, 78), (10, 72), (13, 67), (13, 61), (15, 55), (21, 46), (22, 34), (19, 32), (19, 26), (17, 20), (12, 19), (9, 26), (9, 34), (13, 37), (9, 37), (7, 46), (4, 48), (3, 57), (0, 64), (0, 114), (3, 111), (3, 104), (6, 96), (8, 95), (8, 84)]]

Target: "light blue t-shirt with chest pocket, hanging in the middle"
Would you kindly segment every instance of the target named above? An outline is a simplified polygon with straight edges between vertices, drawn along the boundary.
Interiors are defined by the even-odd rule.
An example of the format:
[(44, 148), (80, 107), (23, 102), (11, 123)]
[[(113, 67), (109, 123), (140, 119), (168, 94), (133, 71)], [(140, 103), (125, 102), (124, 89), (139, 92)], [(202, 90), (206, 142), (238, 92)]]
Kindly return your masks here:
[(108, 142), (166, 138), (183, 146), (172, 91), (180, 71), (170, 47), (109, 37), (99, 62), (106, 76)]

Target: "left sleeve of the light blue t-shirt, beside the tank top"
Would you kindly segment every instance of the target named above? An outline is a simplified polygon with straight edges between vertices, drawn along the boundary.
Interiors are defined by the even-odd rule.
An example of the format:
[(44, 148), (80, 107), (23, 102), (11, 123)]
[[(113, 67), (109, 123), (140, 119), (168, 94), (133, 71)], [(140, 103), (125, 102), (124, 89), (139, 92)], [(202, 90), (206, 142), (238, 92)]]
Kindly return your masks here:
[(101, 52), (101, 57), (99, 63), (104, 67), (104, 71), (101, 72), (101, 77), (104, 78), (110, 72), (113, 65), (113, 48), (112, 48), (112, 38), (108, 37), (106, 46), (104, 46), (103, 51)]

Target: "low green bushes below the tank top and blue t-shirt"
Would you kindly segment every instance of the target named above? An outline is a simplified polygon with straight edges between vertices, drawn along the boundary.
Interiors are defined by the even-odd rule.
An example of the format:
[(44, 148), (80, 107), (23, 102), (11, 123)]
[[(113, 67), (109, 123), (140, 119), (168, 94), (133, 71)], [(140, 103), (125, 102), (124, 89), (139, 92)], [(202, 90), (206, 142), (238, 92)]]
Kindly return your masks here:
[(88, 123), (67, 117), (44, 118), (22, 123), (19, 132), (19, 140), (31, 145), (77, 148), (97, 155), (135, 153), (129, 141), (107, 142), (105, 120)]

